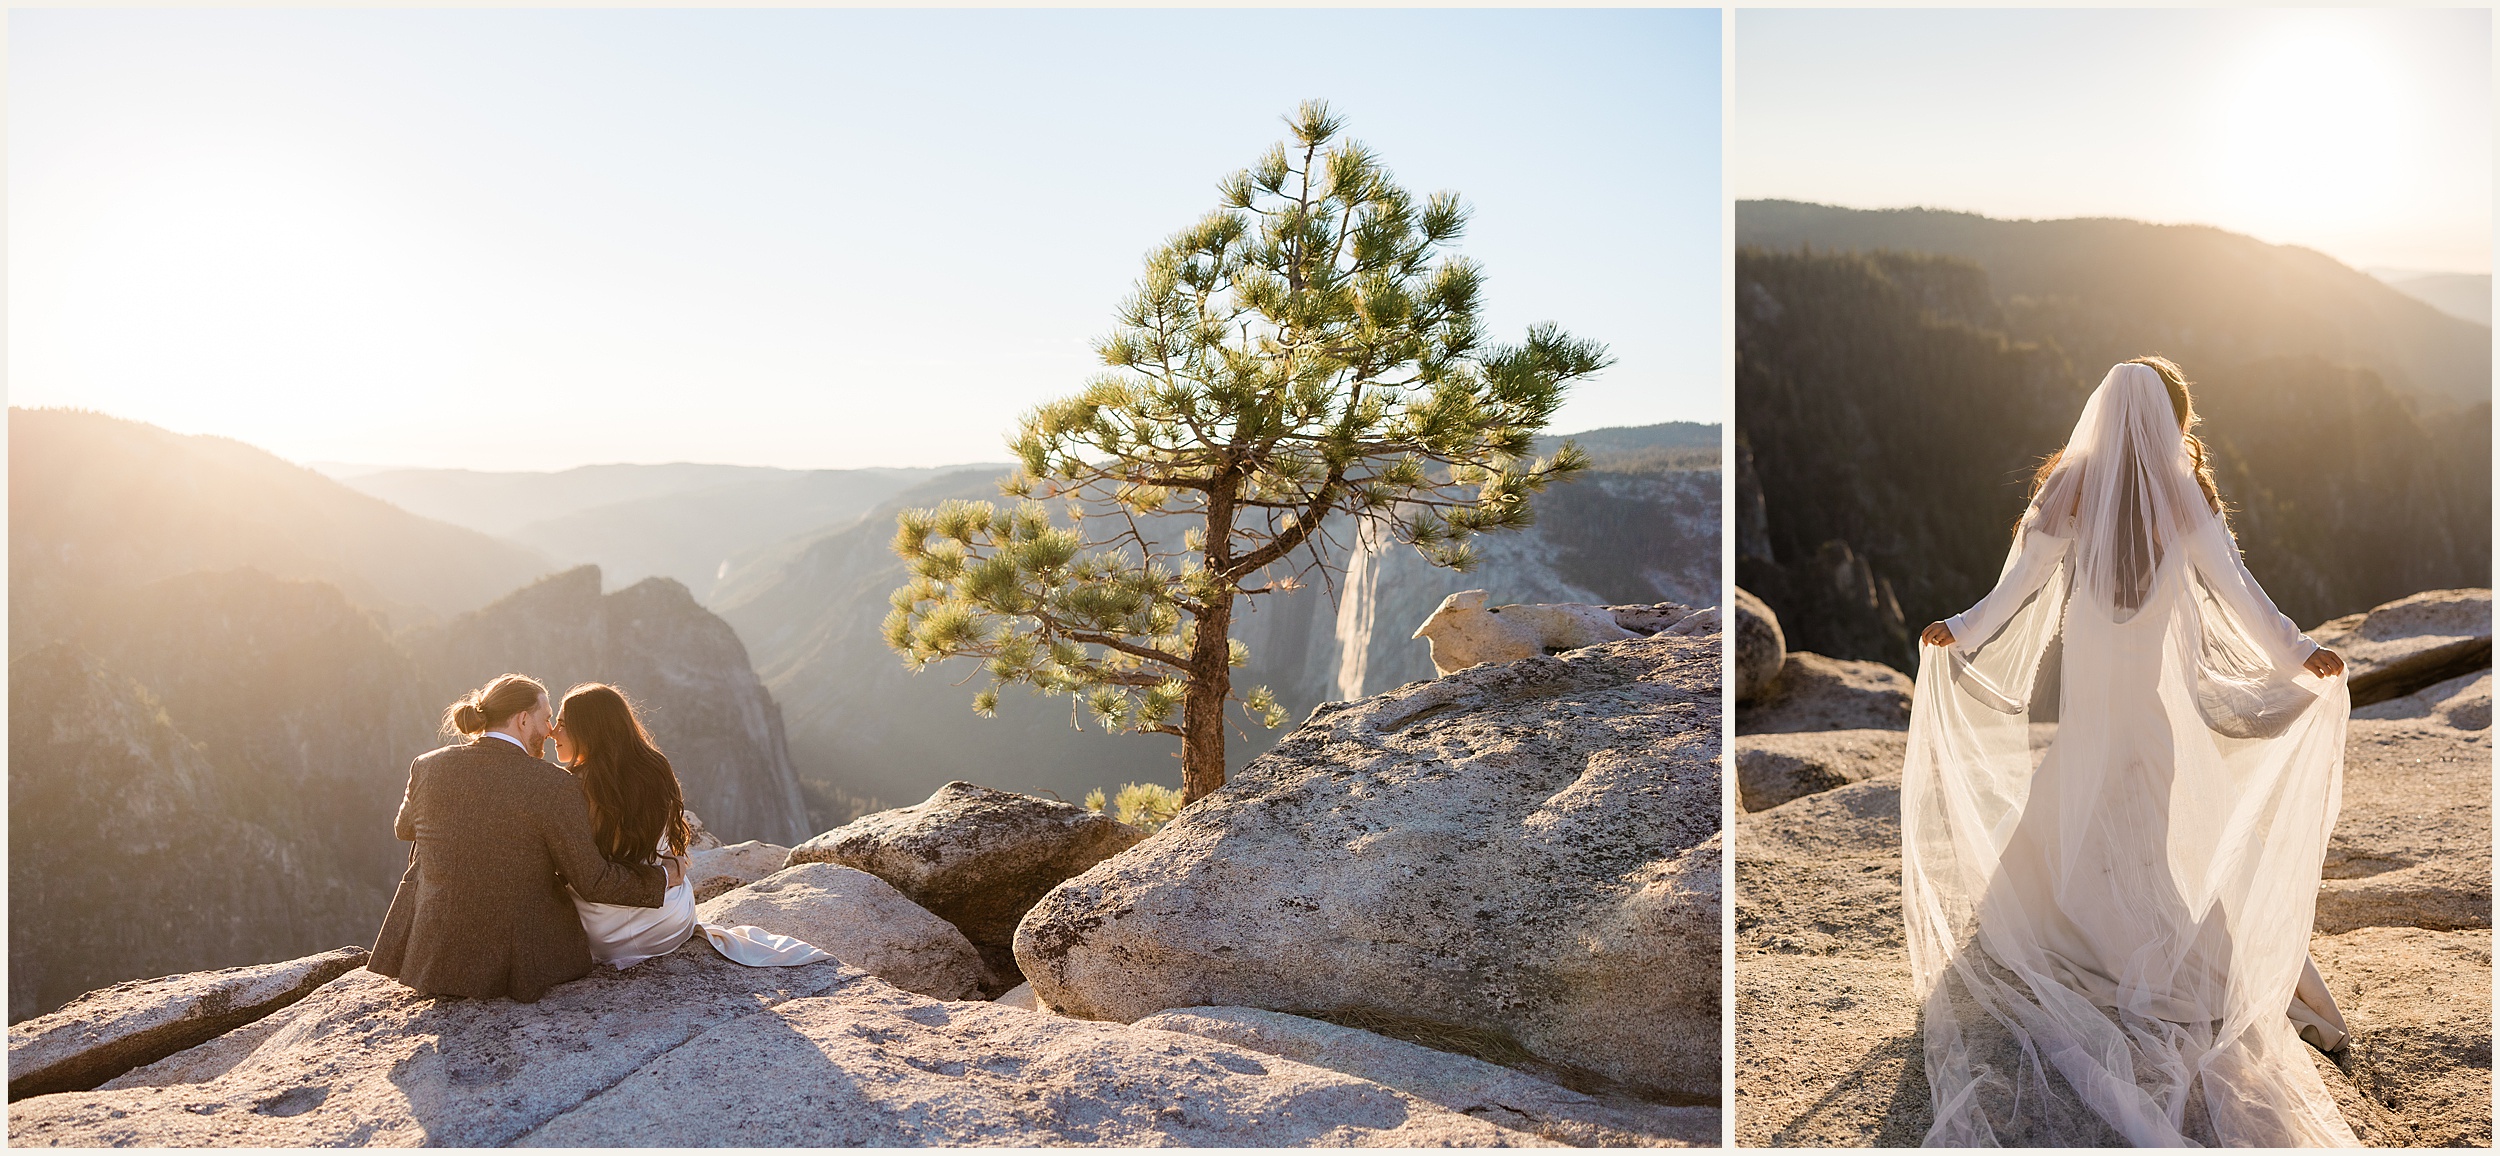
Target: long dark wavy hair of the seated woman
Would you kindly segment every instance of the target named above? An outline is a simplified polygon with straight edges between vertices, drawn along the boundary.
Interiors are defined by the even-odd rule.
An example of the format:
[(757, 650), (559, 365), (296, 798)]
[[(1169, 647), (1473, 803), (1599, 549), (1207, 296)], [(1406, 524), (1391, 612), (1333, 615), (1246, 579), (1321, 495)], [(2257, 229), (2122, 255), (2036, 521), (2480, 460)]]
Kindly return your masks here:
[(615, 863), (652, 863), (660, 858), (660, 838), (668, 838), (668, 853), (682, 856), (692, 838), (685, 791), (625, 693), (608, 683), (575, 686), (565, 691), (565, 708), (555, 721), (580, 756), (572, 778), (590, 801), (590, 831), (600, 853)]

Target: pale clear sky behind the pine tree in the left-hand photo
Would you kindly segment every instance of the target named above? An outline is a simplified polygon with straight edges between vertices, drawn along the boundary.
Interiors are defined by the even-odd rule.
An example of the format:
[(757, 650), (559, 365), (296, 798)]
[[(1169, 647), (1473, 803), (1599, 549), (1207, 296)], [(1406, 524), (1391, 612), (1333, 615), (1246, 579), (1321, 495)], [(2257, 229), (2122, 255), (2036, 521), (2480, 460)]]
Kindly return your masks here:
[(1560, 430), (1725, 415), (1715, 10), (18, 10), (12, 405), (295, 460), (998, 460), (1325, 98)]

